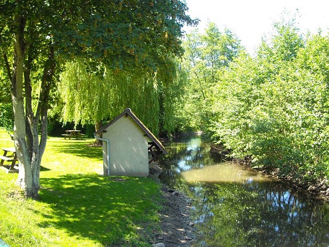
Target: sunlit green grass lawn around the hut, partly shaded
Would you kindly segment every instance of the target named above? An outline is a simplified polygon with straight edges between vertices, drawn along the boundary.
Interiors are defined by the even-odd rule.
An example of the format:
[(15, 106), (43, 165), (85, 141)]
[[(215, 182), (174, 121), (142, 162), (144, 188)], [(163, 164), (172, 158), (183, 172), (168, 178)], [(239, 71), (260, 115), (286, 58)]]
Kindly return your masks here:
[[(104, 177), (93, 139), (50, 137), (41, 162), (40, 200), (25, 200), (17, 173), (0, 170), (0, 238), (15, 246), (148, 246), (158, 227), (159, 185)], [(0, 129), (0, 146), (13, 147)], [(1, 154), (2, 155), (2, 154)]]

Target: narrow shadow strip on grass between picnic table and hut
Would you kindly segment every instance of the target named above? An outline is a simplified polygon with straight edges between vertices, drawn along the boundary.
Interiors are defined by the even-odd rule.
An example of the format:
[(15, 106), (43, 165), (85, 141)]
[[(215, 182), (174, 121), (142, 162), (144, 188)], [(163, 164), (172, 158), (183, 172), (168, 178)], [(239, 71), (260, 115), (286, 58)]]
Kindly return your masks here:
[(73, 154), (75, 156), (90, 158), (90, 159), (103, 159), (102, 147), (88, 146), (85, 142), (70, 142), (65, 145), (53, 145), (59, 153)]

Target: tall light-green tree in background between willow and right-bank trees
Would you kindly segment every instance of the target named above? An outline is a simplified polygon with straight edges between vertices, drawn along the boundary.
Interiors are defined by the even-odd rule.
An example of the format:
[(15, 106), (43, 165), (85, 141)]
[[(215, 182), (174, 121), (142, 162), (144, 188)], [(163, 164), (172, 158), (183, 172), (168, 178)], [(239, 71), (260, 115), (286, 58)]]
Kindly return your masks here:
[(225, 70), (243, 48), (231, 31), (220, 32), (214, 23), (208, 24), (205, 34), (196, 29), (187, 35), (184, 48), (189, 83), (183, 118), (193, 129), (204, 130), (212, 115), (215, 96), (212, 87), (219, 82), (221, 70)]

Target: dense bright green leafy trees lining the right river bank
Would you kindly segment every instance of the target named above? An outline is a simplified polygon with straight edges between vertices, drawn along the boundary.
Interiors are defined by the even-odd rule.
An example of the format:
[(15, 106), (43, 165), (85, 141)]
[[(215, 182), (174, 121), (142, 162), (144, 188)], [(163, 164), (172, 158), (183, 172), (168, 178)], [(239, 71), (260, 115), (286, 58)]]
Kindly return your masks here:
[(283, 177), (328, 179), (329, 40), (293, 25), (276, 24), (256, 58), (242, 54), (223, 71), (208, 133), (232, 156)]

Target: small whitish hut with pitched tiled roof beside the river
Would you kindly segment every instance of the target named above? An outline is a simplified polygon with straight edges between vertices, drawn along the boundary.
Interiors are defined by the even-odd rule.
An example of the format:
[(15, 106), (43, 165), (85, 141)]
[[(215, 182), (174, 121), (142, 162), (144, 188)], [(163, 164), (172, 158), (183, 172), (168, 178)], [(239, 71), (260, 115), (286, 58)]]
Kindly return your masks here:
[(103, 140), (104, 175), (146, 177), (148, 165), (159, 155), (167, 154), (129, 108), (100, 128), (95, 137)]

